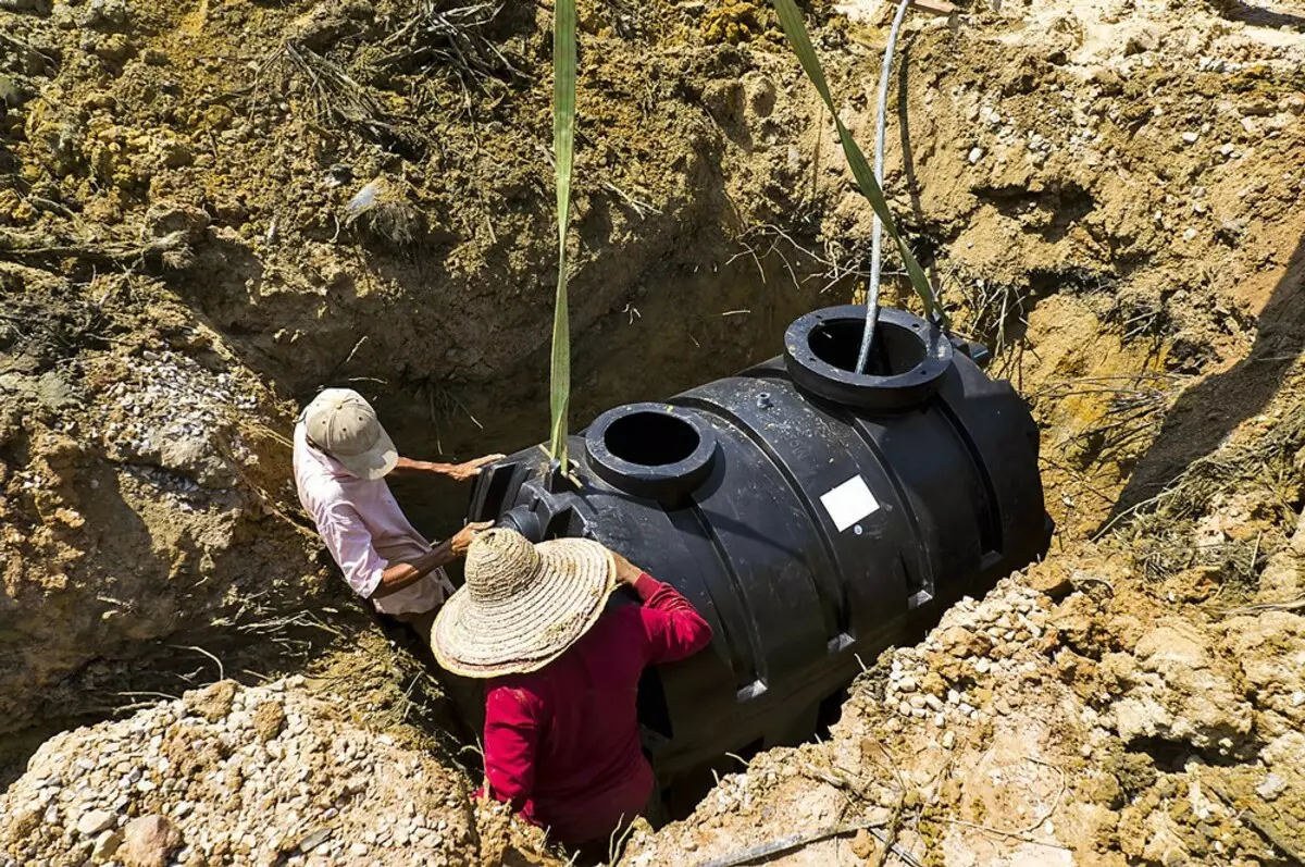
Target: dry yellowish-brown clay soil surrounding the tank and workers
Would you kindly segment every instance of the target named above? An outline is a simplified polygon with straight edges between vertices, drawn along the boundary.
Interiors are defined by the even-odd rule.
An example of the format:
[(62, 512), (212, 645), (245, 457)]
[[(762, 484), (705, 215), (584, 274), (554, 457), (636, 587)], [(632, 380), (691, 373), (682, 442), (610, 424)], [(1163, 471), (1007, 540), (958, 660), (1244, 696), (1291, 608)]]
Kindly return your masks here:
[[(579, 12), (585, 420), (857, 298), (870, 214), (765, 4)], [(806, 12), (868, 146), (889, 10)], [(0, 4), (0, 863), (557, 858), (470, 800), (437, 684), (342, 589), (286, 445), (343, 384), (416, 457), (542, 439), (549, 27)], [(613, 855), (1300, 863), (1302, 29), (1237, 0), (912, 13), (885, 188), (1034, 406), (1057, 535), (867, 659), (829, 738)], [(466, 495), (397, 494), (432, 535)]]

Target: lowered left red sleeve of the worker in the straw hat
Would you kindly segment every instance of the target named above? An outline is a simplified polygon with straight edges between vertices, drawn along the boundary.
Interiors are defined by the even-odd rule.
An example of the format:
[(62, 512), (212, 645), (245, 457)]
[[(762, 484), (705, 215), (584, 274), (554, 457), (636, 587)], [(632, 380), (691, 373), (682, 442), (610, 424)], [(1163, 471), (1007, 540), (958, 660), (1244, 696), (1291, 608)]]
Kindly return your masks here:
[(535, 819), (535, 763), (544, 708), (539, 696), (513, 686), (485, 696), (485, 782), (489, 794), (512, 804), (526, 821)]

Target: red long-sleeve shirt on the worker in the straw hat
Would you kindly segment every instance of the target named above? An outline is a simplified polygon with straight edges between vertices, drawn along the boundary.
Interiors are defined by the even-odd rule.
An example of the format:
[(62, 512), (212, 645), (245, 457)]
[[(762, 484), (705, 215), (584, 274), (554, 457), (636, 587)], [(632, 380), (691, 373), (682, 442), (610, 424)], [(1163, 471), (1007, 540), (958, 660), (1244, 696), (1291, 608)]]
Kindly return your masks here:
[(544, 669), (485, 689), (491, 794), (565, 842), (606, 838), (642, 812), (652, 769), (639, 749), (639, 674), (711, 642), (675, 588), (642, 575), (634, 590), (642, 606), (608, 611)]

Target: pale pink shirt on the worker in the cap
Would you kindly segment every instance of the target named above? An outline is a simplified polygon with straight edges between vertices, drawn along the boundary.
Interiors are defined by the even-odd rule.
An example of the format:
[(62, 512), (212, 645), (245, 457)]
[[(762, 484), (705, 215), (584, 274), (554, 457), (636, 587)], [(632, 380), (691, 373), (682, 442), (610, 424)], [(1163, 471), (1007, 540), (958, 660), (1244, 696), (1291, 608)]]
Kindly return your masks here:
[[(295, 426), (295, 486), (304, 511), (317, 524), (326, 550), (354, 591), (371, 599), (381, 573), (395, 563), (411, 563), (431, 551), (431, 543), (408, 524), (385, 479), (360, 479), (321, 449), (308, 444)], [(433, 611), (453, 585), (436, 569), (372, 605), (382, 614)]]

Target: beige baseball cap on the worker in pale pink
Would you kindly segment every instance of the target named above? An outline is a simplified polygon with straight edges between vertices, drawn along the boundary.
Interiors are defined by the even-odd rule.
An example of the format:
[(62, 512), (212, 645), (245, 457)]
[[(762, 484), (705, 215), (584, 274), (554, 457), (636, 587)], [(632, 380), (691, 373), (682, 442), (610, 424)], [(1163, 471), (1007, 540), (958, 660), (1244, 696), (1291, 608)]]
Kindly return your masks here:
[(308, 439), (360, 479), (384, 478), (398, 464), (376, 410), (350, 388), (328, 388), (304, 410)]

